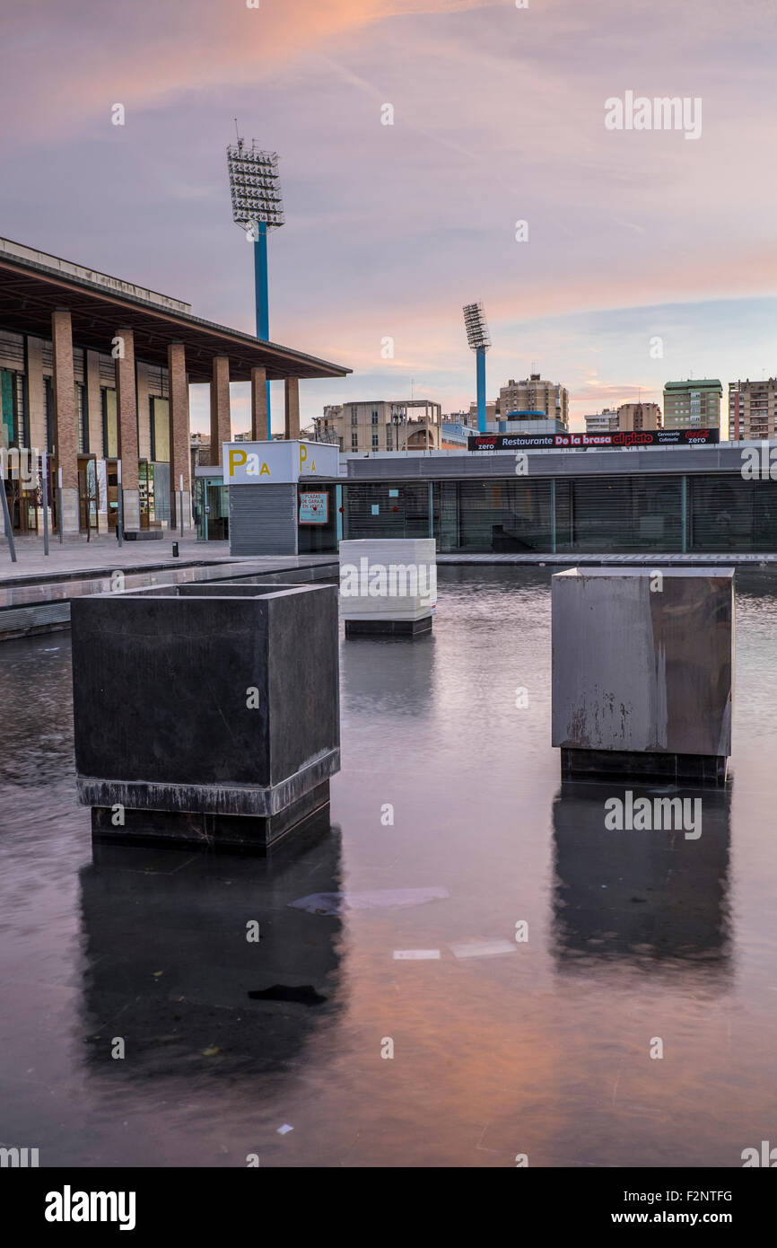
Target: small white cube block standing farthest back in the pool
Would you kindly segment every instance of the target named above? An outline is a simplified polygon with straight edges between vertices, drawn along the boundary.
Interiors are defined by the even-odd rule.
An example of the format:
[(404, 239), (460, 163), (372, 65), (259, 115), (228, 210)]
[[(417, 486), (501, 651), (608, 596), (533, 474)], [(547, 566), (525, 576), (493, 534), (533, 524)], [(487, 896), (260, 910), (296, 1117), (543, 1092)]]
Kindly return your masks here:
[(345, 636), (422, 636), (437, 609), (434, 538), (340, 542)]

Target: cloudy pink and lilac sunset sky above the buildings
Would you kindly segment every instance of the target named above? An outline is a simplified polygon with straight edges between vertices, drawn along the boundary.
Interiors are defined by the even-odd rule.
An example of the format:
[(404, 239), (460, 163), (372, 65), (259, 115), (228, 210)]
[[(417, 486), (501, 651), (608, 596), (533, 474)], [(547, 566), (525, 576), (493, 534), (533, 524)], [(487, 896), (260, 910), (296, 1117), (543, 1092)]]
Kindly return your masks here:
[[(410, 393), (468, 408), (476, 300), (489, 397), (538, 371), (574, 428), (666, 381), (777, 373), (773, 0), (254, 2), (2, 0), (0, 235), (253, 332), (237, 117), (281, 157), (269, 336), (353, 368), (302, 382), (303, 424)], [(687, 100), (698, 132), (690, 111), (609, 129), (627, 92)]]

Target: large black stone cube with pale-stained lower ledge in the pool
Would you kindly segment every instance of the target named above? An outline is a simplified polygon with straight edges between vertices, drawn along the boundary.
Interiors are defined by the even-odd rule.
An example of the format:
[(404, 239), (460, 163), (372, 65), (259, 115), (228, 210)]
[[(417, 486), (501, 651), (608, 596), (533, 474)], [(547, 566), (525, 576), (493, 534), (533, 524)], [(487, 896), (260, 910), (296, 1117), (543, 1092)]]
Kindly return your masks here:
[(162, 585), (74, 602), (80, 801), (100, 839), (266, 849), (339, 770), (333, 585)]

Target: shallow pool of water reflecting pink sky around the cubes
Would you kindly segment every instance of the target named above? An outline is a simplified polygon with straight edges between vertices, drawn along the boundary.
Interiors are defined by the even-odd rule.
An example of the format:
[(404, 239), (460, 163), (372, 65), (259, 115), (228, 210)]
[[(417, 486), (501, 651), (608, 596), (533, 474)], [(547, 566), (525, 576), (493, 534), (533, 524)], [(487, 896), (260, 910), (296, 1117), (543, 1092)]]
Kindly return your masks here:
[(561, 785), (550, 572), (440, 568), (430, 638), (343, 641), (332, 824), (268, 861), (92, 850), (69, 638), (0, 646), (0, 1143), (738, 1167), (776, 1142), (777, 575), (737, 573), (731, 779), (688, 840)]

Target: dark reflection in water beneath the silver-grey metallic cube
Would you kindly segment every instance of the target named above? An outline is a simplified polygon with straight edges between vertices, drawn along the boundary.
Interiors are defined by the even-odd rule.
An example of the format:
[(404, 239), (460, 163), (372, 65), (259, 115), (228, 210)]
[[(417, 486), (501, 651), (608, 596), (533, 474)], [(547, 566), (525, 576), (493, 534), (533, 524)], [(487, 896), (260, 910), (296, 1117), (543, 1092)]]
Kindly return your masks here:
[[(701, 835), (610, 830), (605, 802), (698, 799)], [(693, 807), (691, 807), (693, 809)], [(564, 781), (553, 805), (554, 948), (561, 971), (626, 960), (642, 971), (706, 962), (728, 970), (731, 790)]]

